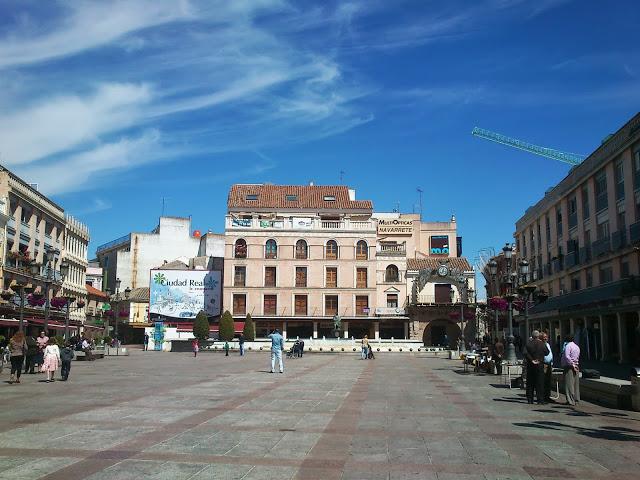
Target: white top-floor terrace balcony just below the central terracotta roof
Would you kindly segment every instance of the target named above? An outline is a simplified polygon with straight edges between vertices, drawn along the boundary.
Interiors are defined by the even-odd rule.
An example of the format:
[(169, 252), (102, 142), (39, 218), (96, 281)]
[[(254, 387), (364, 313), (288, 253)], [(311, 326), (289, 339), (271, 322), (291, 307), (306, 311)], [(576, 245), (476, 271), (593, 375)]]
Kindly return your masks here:
[(377, 224), (372, 220), (322, 220), (319, 218), (284, 218), (260, 220), (257, 218), (232, 218), (225, 220), (226, 230), (344, 230), (376, 231)]

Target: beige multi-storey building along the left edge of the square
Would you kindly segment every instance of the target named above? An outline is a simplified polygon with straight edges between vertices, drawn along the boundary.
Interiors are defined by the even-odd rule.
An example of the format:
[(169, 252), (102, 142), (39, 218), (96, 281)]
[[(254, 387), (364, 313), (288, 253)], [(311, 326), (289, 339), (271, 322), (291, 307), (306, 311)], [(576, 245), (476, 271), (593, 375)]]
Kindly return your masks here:
[[(3, 259), (0, 266), (0, 290), (6, 292), (2, 302), (5, 318), (17, 318), (20, 299), (19, 286), (25, 287), (24, 319), (26, 325), (42, 328), (44, 307), (27, 301), (28, 293), (42, 297), (46, 292), (47, 277), (49, 297), (72, 296), (86, 302), (84, 270), (87, 263), (89, 232), (83, 224), (65, 216), (64, 210), (37, 190), (37, 185), (24, 182), (9, 170), (0, 167), (0, 202), (6, 227), (3, 229)], [(47, 261), (46, 253), (53, 252), (53, 260)], [(67, 261), (70, 274), (62, 282), (60, 265)], [(34, 274), (32, 269), (39, 270)], [(16, 296), (9, 298), (14, 292)], [(84, 312), (71, 306), (71, 325), (80, 327)], [(49, 327), (61, 333), (66, 310), (50, 309)]]

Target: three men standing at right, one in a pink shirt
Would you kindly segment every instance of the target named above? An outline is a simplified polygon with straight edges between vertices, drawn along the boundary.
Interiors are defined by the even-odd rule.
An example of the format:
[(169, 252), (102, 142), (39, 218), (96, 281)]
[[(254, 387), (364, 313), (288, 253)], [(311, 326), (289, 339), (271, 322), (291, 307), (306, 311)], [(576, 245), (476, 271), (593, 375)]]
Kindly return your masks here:
[[(534, 330), (525, 345), (525, 367), (527, 379), (527, 402), (545, 405), (551, 401), (551, 382), (553, 375), (553, 351), (546, 332)], [(570, 335), (560, 350), (560, 366), (563, 371), (565, 397), (567, 405), (580, 402), (580, 347)]]

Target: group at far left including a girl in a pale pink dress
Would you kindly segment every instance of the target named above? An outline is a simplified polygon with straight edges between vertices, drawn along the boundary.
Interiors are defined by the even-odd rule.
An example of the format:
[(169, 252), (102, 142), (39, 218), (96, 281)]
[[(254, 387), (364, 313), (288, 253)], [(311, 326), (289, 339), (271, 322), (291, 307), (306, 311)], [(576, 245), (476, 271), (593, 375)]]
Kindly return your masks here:
[(24, 367), (24, 373), (34, 374), (36, 367), (38, 372), (47, 374), (47, 382), (53, 382), (54, 373), (61, 368), (62, 380), (69, 378), (71, 360), (75, 356), (71, 344), (62, 348), (54, 338), (50, 338), (45, 332), (40, 332), (37, 338), (17, 332), (9, 340), (9, 356), (11, 360), (11, 376), (9, 384), (19, 384)]

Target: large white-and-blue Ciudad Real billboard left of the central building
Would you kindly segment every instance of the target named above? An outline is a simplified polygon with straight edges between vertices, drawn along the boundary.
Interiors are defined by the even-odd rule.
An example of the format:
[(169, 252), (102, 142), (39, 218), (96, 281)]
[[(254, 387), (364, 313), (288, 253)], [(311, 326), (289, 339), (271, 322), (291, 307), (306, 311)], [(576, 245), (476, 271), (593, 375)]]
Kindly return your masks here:
[(200, 310), (220, 315), (220, 271), (151, 270), (149, 313), (194, 319)]

